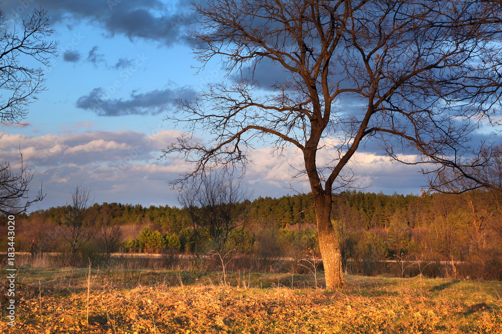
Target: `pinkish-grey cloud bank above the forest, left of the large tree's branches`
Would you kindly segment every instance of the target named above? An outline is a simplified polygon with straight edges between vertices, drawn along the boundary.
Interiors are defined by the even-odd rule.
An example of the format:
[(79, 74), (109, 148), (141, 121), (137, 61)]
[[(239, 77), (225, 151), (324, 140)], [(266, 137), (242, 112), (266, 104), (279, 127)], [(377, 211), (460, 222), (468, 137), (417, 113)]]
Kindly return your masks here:
[(176, 203), (168, 181), (188, 171), (176, 157), (159, 161), (160, 151), (180, 131), (153, 130), (151, 134), (131, 130), (87, 131), (27, 136), (0, 132), (0, 157), (20, 166), (19, 148), (25, 164), (33, 170), (31, 185), (43, 183), (47, 197), (38, 207), (63, 205), (75, 185), (91, 185), (95, 201)]

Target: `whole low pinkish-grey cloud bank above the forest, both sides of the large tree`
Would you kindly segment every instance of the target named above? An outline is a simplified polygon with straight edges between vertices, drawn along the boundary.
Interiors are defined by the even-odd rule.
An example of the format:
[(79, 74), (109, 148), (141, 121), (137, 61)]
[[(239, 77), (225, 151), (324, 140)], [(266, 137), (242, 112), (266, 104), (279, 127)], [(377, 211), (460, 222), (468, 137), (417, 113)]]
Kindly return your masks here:
[[(23, 159), (34, 171), (34, 189), (43, 183), (48, 194), (33, 210), (63, 205), (70, 188), (79, 184), (92, 186), (97, 203), (177, 205), (177, 193), (170, 190), (168, 181), (190, 171), (192, 166), (176, 155), (161, 161), (158, 157), (180, 134), (177, 130), (159, 129), (148, 134), (131, 130), (42, 136), (0, 132), (0, 157), (17, 168), (21, 144)], [(297, 173), (295, 168), (302, 166), (301, 155), (294, 148), (287, 148), (280, 157), (272, 157), (271, 151), (271, 147), (253, 151), (254, 164), (248, 166), (243, 186), (248, 187), (255, 198), (309, 192), (305, 178), (292, 179)], [(361, 176), (361, 185), (368, 186), (365, 191), (417, 194), (424, 183), (416, 166), (393, 164), (382, 154), (371, 152), (356, 153), (355, 158), (357, 163), (351, 167)], [(319, 163), (327, 159), (319, 155)]]

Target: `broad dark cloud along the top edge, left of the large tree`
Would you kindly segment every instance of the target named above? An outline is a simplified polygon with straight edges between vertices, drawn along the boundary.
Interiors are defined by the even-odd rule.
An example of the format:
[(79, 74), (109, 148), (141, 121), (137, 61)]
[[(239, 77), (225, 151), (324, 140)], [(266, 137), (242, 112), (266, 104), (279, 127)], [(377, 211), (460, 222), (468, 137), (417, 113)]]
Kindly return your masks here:
[(174, 4), (170, 0), (37, 0), (36, 4), (27, 0), (26, 6), (20, 6), (21, 3), (6, 0), (2, 10), (16, 19), (41, 7), (49, 12), (53, 23), (71, 26), (74, 21), (86, 21), (105, 29), (110, 36), (152, 40), (167, 46), (188, 42), (186, 30), (196, 14), (187, 0)]

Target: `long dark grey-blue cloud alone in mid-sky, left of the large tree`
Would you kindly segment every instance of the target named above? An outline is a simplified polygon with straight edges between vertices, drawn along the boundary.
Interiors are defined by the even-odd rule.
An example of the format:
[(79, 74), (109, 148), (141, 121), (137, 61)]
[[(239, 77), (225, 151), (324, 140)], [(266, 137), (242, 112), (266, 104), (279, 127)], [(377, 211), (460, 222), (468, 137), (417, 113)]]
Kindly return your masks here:
[(114, 92), (95, 88), (88, 95), (77, 100), (80, 109), (91, 110), (98, 116), (158, 115), (173, 109), (176, 99), (191, 99), (195, 91), (189, 87), (155, 90), (137, 94), (133, 92), (129, 100), (111, 99)]

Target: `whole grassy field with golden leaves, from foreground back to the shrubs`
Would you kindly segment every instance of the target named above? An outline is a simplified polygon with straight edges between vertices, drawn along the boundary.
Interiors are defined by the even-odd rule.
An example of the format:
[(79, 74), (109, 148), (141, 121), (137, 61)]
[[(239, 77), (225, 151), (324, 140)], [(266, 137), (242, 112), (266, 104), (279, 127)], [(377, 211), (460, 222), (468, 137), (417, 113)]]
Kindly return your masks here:
[[(2, 333), (502, 333), (496, 281), (21, 269), (16, 325)], [(322, 275), (317, 277), (323, 281)], [(319, 286), (319, 282), (318, 282)]]

